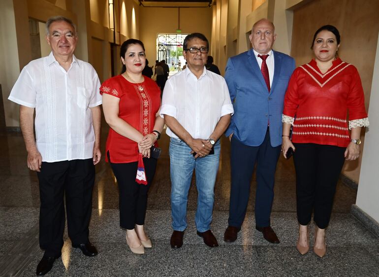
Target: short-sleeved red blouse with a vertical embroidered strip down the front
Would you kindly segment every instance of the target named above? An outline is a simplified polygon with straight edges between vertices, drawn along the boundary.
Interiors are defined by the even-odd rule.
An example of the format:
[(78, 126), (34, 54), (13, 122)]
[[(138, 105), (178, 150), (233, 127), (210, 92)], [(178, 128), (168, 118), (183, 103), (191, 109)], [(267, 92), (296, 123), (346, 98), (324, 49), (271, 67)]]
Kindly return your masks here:
[[(156, 113), (160, 107), (160, 90), (155, 81), (144, 77), (142, 83), (133, 84), (122, 75), (106, 80), (100, 87), (100, 94), (106, 93), (120, 98), (119, 117), (142, 135), (153, 131)], [(109, 129), (105, 153), (109, 151), (112, 163), (131, 163), (138, 161), (137, 142), (121, 136)], [(105, 161), (108, 161), (105, 155)]]

